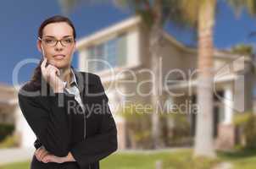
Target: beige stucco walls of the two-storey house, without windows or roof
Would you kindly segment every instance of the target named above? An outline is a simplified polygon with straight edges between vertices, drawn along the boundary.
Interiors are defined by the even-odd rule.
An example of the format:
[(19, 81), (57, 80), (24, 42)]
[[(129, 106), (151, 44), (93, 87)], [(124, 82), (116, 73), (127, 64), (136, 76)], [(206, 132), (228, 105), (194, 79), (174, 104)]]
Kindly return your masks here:
[[(109, 106), (114, 114), (118, 112), (119, 106), (122, 106), (125, 101), (130, 101), (130, 103), (150, 104), (150, 95), (145, 94), (150, 93), (151, 84), (150, 82), (142, 84), (142, 81), (146, 82), (151, 80), (150, 74), (145, 72), (142, 73), (143, 70), (152, 70), (150, 67), (151, 55), (149, 52), (148, 31), (145, 29), (144, 25), (139, 24), (133, 25), (125, 30), (120, 30), (120, 32), (125, 32), (127, 35), (127, 63), (122, 68), (116, 69), (115, 74), (126, 69), (130, 69), (133, 74), (131, 75), (126, 73), (122, 79), (114, 78), (103, 80), (104, 88), (109, 96)], [(112, 37), (112, 35), (109, 35), (109, 37)], [(108, 38), (103, 37), (97, 42), (104, 41), (106, 39)], [(94, 42), (92, 41), (92, 43)], [(196, 79), (197, 73), (194, 71), (198, 68), (198, 56), (195, 50), (181, 47), (167, 38), (165, 39), (164, 46), (161, 47), (160, 51), (163, 85), (164, 79), (166, 78), (181, 79), (185, 81), (188, 79)], [(86, 56), (86, 46), (84, 46), (84, 48), (81, 48), (79, 52), (79, 68), (82, 71), (87, 71), (85, 64)], [(232, 64), (234, 59), (236, 60), (236, 58), (232, 58), (230, 56), (225, 57), (225, 54), (222, 56), (214, 56), (215, 75), (225, 72), (225, 67), (229, 68), (229, 65)], [(242, 70), (242, 65), (244, 64), (238, 63), (236, 65), (238, 65), (236, 66), (237, 70)], [(175, 71), (176, 74), (170, 74), (171, 71)], [(237, 74), (233, 69), (230, 69), (228, 72), (229, 74)], [(106, 79), (106, 77), (108, 78), (109, 76), (108, 74), (106, 75), (106, 73), (102, 74), (96, 72), (96, 74), (99, 74), (102, 79)], [(182, 77), (182, 75), (185, 75), (185, 77)], [(223, 90), (231, 92), (233, 97), (232, 99), (234, 100), (233, 105), (241, 106), (243, 104), (244, 110), (248, 110), (252, 106), (252, 84), (248, 83), (248, 81), (253, 78), (253, 74), (246, 74), (243, 77), (244, 80), (242, 83), (240, 81), (241, 79), (225, 79), (224, 81), (218, 82), (214, 87), (216, 87), (216, 91)], [(186, 96), (174, 98), (173, 101), (175, 104), (182, 104), (188, 98), (188, 89), (186, 87), (179, 90), (185, 90)], [(142, 92), (142, 94), (138, 91)], [(195, 85), (192, 88), (192, 95), (195, 95), (196, 92), (197, 89)], [(133, 95), (128, 95), (128, 93), (133, 93)], [(163, 95), (163, 98), (168, 98), (166, 93), (163, 93)], [(223, 110), (228, 110), (228, 106), (225, 106), (225, 102), (220, 102), (220, 104), (222, 104), (222, 106), (220, 105), (222, 112)], [(118, 124), (123, 124), (122, 119), (119, 117), (115, 116), (115, 120)], [(231, 119), (227, 121), (231, 121)], [(125, 139), (125, 129), (123, 127), (124, 126), (119, 126), (119, 128), (122, 128), (119, 141), (122, 143), (122, 147), (125, 147), (125, 143), (123, 142)]]

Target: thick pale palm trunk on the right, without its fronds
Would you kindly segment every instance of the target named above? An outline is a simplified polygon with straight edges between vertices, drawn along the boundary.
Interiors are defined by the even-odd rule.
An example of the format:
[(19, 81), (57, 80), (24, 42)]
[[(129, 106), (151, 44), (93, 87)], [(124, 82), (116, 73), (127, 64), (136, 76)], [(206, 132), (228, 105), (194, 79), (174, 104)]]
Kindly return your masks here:
[(195, 138), (196, 156), (215, 157), (213, 114), (213, 28), (216, 0), (200, 4), (198, 14), (198, 114)]

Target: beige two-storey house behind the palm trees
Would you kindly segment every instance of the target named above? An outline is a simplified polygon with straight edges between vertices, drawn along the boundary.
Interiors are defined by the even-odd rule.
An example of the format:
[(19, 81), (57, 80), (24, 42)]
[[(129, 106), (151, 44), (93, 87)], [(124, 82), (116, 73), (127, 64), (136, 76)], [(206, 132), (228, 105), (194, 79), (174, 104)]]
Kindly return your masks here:
[[(175, 105), (182, 108), (184, 105), (188, 107), (195, 104), (198, 85), (197, 49), (183, 45), (165, 31), (161, 43), (161, 74), (158, 74), (163, 79), (159, 82), (163, 98), (161, 101), (167, 102), (169, 107)], [(151, 79), (148, 74), (148, 70), (152, 70), (148, 30), (140, 17), (131, 17), (81, 38), (77, 41), (77, 49), (79, 69), (98, 74), (103, 81), (118, 127), (119, 148), (131, 148), (125, 119), (118, 116), (118, 108), (125, 101), (150, 103), (150, 95), (143, 95), (150, 93), (150, 84), (140, 84)], [(233, 116), (253, 106), (253, 73), (250, 65), (248, 56), (214, 50), (213, 116), (217, 148), (229, 149), (234, 146), (236, 132), (232, 125)], [(135, 95), (128, 95), (132, 91)], [(186, 108), (185, 112), (191, 125), (191, 135), (194, 136), (196, 113), (192, 113), (191, 107)]]

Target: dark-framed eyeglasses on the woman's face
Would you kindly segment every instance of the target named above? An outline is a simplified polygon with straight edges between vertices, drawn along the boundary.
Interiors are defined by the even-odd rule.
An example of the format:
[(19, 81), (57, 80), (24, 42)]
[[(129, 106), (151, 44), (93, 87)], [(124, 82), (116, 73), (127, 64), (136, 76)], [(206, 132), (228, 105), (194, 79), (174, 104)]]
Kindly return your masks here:
[(56, 46), (58, 41), (60, 41), (62, 46), (71, 46), (75, 41), (71, 37), (64, 37), (61, 40), (57, 40), (54, 37), (46, 37), (46, 38), (37, 37), (37, 39), (40, 40), (40, 41), (43, 41), (46, 44), (46, 46), (49, 46), (49, 47)]

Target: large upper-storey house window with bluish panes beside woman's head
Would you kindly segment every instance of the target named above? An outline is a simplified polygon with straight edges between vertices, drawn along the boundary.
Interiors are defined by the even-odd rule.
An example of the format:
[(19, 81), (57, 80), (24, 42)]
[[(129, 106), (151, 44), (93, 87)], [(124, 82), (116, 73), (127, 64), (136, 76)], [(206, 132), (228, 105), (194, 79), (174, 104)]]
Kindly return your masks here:
[(88, 64), (89, 70), (97, 72), (109, 67), (123, 66), (126, 62), (126, 55), (126, 35), (118, 35), (109, 41), (88, 48), (88, 58), (92, 59)]

